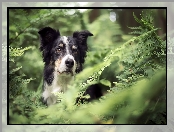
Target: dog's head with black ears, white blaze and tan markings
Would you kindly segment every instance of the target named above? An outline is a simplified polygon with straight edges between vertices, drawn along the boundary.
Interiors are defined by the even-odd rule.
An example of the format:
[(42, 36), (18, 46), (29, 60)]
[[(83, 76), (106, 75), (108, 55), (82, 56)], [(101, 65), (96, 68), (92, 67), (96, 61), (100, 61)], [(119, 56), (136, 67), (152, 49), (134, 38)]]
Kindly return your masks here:
[(45, 65), (52, 65), (60, 75), (74, 75), (82, 70), (87, 52), (87, 38), (93, 36), (87, 30), (76, 31), (72, 36), (61, 36), (51, 27), (41, 29), (40, 50)]

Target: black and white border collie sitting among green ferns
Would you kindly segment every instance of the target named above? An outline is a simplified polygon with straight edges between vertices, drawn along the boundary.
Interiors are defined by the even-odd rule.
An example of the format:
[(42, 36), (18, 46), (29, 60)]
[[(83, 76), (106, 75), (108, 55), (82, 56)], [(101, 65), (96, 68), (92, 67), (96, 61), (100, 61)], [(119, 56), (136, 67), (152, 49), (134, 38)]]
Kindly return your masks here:
[[(45, 63), (42, 97), (49, 106), (57, 101), (53, 92), (65, 92), (75, 74), (82, 70), (88, 49), (87, 38), (93, 34), (84, 30), (76, 31), (72, 36), (61, 36), (59, 30), (51, 27), (42, 28), (38, 33)], [(93, 91), (97, 92), (89, 88), (85, 94)]]

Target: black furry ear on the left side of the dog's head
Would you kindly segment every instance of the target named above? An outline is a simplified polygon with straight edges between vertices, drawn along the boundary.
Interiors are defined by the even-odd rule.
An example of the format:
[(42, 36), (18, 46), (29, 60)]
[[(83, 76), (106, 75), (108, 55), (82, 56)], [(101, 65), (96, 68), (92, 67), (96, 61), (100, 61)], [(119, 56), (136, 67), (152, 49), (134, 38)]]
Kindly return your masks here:
[(48, 44), (51, 45), (52, 42), (60, 36), (60, 32), (58, 30), (52, 29), (51, 27), (44, 27), (39, 32), (41, 44), (40, 50), (43, 51), (45, 46)]

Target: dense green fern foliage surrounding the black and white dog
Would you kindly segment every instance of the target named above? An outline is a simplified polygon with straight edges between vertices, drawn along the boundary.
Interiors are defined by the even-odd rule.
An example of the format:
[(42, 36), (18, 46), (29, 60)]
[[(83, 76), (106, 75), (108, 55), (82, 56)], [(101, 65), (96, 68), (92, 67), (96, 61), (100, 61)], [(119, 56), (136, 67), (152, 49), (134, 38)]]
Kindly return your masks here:
[[(89, 22), (88, 10), (9, 10), (10, 124), (166, 124), (166, 39), (157, 34), (155, 10), (133, 14), (139, 24), (130, 35), (109, 20), (109, 10)], [(47, 108), (40, 101), (43, 62), (38, 30), (45, 26), (61, 34), (88, 29), (89, 52), (84, 70), (61, 102)], [(121, 38), (121, 39), (120, 39)], [(104, 96), (75, 105), (87, 86), (100, 84)], [(87, 97), (86, 97), (87, 98)]]

